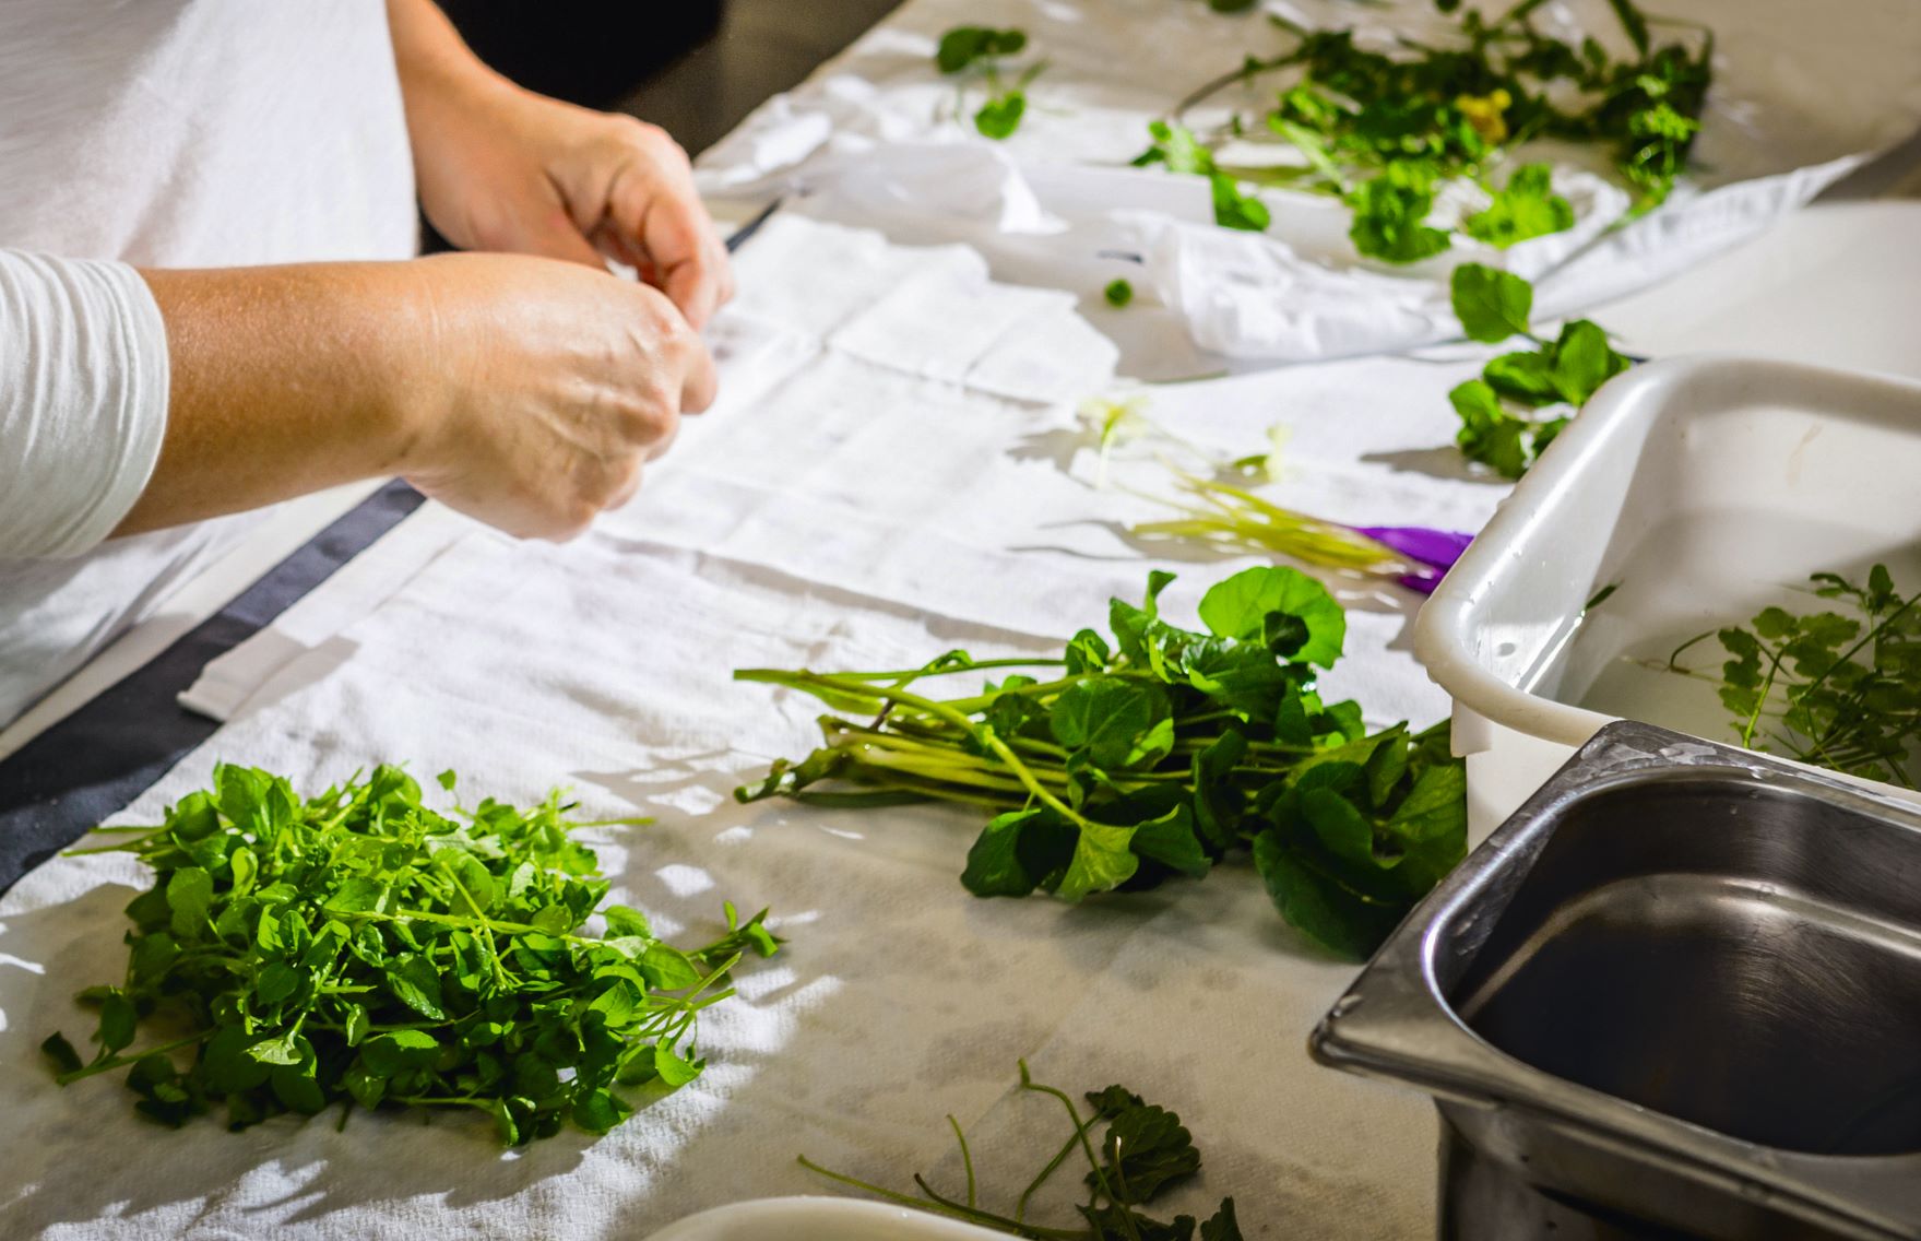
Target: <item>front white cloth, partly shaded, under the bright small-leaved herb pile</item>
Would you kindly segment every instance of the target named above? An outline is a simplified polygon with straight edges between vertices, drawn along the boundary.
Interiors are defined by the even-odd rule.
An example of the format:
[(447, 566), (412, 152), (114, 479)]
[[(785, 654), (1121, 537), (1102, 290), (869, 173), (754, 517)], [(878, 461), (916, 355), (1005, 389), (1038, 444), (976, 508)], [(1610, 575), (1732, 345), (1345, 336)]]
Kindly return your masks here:
[[(1103, 611), (1083, 603), (1060, 620)], [(1306, 1032), (1352, 968), (1287, 934), (1245, 866), (1082, 909), (980, 901), (957, 878), (978, 815), (732, 803), (734, 784), (811, 743), (818, 705), (730, 669), (899, 667), (955, 645), (1045, 649), (722, 555), (474, 534), (286, 665), (125, 818), (152, 820), (217, 755), (302, 786), (407, 757), (423, 774), (457, 768), (469, 797), (563, 784), (582, 816), (653, 815), (594, 834), (615, 899), (690, 941), (715, 934), (722, 899), (770, 905), (791, 937), (701, 1016), (707, 1074), (603, 1139), (567, 1132), (517, 1155), (478, 1116), (159, 1133), (117, 1082), (60, 1089), (36, 1060), (50, 1030), (85, 1030), (71, 991), (125, 968), (119, 909), (144, 882), (117, 857), (61, 859), (0, 903), (0, 1107), (33, 1135), (0, 1168), (8, 1235), (645, 1237), (730, 1201), (832, 1193), (801, 1153), (888, 1183), (916, 1168), (955, 1183), (945, 1112), (1010, 1197), (1058, 1141), (1053, 1116), (1009, 1097), (1018, 1057), (1072, 1089), (1118, 1080), (1178, 1108), (1208, 1155), (1193, 1199), (1237, 1195), (1243, 1226), (1420, 1235), (1427, 1107), (1308, 1066)], [(991, 1137), (1022, 1118), (1055, 1137)]]

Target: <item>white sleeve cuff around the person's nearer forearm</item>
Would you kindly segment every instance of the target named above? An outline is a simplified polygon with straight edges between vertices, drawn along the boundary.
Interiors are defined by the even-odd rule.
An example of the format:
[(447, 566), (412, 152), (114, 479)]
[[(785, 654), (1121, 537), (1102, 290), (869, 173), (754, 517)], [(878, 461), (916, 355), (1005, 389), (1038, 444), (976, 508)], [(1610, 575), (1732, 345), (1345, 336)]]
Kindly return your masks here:
[(0, 250), (0, 559), (73, 557), (146, 490), (167, 327), (125, 263)]

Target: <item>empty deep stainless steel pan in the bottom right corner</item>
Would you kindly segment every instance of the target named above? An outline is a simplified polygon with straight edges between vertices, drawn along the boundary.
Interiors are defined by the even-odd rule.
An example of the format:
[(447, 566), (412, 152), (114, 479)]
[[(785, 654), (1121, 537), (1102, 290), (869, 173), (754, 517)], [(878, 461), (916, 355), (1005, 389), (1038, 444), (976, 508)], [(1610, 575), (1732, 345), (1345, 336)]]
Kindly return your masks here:
[(1921, 813), (1610, 724), (1312, 1051), (1435, 1095), (1445, 1237), (1921, 1237)]

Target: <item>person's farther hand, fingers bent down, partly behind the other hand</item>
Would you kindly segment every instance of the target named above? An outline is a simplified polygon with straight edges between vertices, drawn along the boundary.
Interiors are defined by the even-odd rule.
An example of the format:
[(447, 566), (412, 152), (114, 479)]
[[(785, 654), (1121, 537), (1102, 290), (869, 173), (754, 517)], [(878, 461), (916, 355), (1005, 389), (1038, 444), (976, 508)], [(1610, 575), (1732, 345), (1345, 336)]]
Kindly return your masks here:
[(532, 94), (478, 61), (411, 73), (405, 96), (421, 206), (461, 250), (617, 259), (695, 328), (734, 294), (726, 246), (665, 131)]

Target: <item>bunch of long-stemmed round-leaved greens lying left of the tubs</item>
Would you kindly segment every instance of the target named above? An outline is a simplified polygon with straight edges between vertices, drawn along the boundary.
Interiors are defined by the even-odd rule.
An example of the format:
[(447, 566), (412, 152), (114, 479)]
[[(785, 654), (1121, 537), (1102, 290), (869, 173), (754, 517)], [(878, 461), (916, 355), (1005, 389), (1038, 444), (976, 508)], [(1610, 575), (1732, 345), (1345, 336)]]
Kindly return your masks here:
[[(1347, 617), (1304, 572), (1214, 584), (1206, 632), (1158, 615), (1170, 580), (1151, 574), (1139, 607), (1112, 601), (1112, 644), (1082, 630), (1060, 659), (949, 651), (889, 672), (736, 672), (843, 713), (822, 717), (820, 749), (736, 797), (993, 811), (960, 876), (984, 897), (1080, 901), (1203, 878), (1251, 851), (1287, 922), (1368, 955), (1466, 851), (1447, 726), (1370, 734), (1356, 703), (1322, 701), (1314, 678), (1341, 657)], [(949, 699), (918, 684), (1012, 667), (1049, 670)]]

